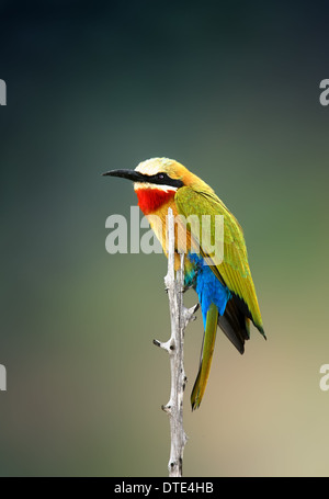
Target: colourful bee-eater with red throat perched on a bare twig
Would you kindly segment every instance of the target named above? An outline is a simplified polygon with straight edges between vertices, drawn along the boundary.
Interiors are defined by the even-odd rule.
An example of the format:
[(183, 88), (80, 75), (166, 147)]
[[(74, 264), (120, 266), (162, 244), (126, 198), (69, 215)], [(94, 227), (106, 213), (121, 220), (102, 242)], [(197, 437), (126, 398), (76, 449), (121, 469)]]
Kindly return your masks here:
[[(237, 218), (215, 191), (180, 162), (169, 158), (150, 158), (134, 170), (110, 170), (103, 175), (133, 181), (138, 205), (150, 227), (166, 247), (166, 217), (171, 208), (175, 219), (211, 218), (211, 237), (201, 237), (200, 224), (178, 223), (175, 226), (174, 268), (184, 259), (184, 290), (193, 288), (201, 305), (204, 336), (197, 376), (191, 393), (192, 410), (203, 399), (214, 354), (217, 326), (240, 354), (250, 338), (250, 322), (266, 339), (253, 280), (248, 263), (245, 236)], [(215, 217), (224, 220), (223, 254), (214, 257)], [(180, 238), (184, 231), (185, 240)], [(206, 233), (206, 231), (205, 231)], [(206, 233), (206, 234), (207, 234)], [(209, 242), (208, 239), (212, 239)], [(207, 240), (206, 240), (207, 239)], [(183, 242), (182, 242), (183, 241)]]

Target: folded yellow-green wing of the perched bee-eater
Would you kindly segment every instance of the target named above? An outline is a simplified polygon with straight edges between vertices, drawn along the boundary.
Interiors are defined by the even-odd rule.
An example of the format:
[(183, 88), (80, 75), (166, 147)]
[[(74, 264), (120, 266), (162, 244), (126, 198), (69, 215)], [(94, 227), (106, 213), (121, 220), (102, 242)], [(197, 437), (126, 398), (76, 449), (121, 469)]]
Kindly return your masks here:
[[(197, 191), (190, 186), (184, 186), (177, 191), (174, 201), (178, 212), (185, 218), (191, 215), (196, 215), (200, 219), (200, 226), (202, 224), (202, 216), (211, 215), (211, 237), (213, 240), (215, 237), (215, 215), (224, 216), (223, 261), (219, 264), (211, 265), (212, 271), (241, 299), (242, 308), (246, 308), (247, 306), (245, 315), (253, 321), (261, 333), (264, 333), (254, 285), (248, 264), (243, 231), (238, 220), (211, 189)], [(197, 230), (193, 228), (193, 225), (189, 225), (189, 228), (191, 229), (194, 239), (200, 243), (204, 257), (212, 259), (207, 246), (203, 245), (201, 234), (197, 234)]]

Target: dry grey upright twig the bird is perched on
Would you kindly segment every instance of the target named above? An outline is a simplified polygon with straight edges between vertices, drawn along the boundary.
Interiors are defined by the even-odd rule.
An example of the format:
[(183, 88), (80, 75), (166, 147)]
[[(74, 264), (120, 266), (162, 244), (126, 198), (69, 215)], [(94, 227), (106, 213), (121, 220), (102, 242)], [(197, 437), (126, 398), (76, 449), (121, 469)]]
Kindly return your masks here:
[(183, 452), (186, 443), (186, 434), (183, 428), (183, 396), (186, 384), (184, 371), (184, 331), (188, 324), (195, 319), (193, 315), (197, 309), (196, 304), (192, 308), (183, 305), (184, 290), (184, 254), (180, 256), (181, 265), (174, 275), (174, 216), (172, 209), (168, 209), (168, 273), (164, 285), (169, 297), (171, 337), (162, 343), (154, 340), (154, 343), (169, 353), (171, 372), (170, 399), (162, 406), (170, 419), (171, 447), (168, 470), (170, 477), (182, 476)]

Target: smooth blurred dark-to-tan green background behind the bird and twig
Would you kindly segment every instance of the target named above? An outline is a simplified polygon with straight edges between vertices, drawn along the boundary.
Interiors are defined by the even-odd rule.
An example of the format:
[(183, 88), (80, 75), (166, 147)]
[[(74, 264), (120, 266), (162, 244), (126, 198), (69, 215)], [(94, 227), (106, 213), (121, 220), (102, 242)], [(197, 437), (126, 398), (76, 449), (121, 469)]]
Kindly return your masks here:
[[(102, 178), (154, 156), (209, 183), (245, 229), (268, 341), (219, 333), (190, 409), (185, 476), (326, 476), (326, 2), (0, 2), (0, 474), (166, 476), (169, 338), (159, 254), (105, 251), (136, 204)], [(196, 295), (189, 292), (186, 304)]]

